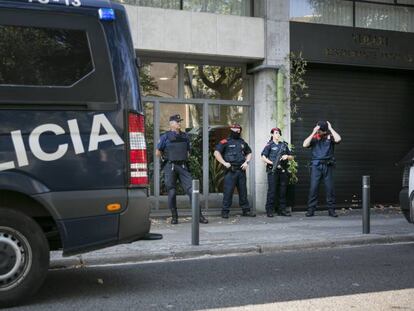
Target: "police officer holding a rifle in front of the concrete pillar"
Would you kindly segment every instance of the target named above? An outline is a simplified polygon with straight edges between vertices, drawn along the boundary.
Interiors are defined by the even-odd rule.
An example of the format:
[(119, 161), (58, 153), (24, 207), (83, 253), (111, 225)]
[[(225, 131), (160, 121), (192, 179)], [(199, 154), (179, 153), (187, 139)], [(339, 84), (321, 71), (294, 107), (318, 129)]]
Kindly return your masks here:
[(286, 211), (286, 191), (289, 182), (287, 172), (288, 161), (293, 159), (288, 144), (281, 141), (282, 131), (275, 127), (270, 131), (272, 134), (270, 141), (262, 151), (262, 160), (267, 164), (267, 200), (266, 214), (267, 217), (273, 217), (276, 193), (279, 193), (279, 211), (280, 216), (291, 216)]

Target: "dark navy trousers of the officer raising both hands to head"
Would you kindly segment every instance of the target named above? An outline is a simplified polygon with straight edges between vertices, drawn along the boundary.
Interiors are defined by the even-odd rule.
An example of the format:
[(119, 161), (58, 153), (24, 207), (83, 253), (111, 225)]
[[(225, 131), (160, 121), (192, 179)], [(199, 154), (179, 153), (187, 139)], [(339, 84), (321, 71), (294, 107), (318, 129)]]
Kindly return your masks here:
[(323, 180), (325, 184), (326, 203), (329, 210), (335, 209), (335, 189), (333, 181), (332, 165), (327, 164), (312, 164), (311, 165), (311, 180), (308, 197), (308, 210), (314, 211), (318, 204), (319, 184)]

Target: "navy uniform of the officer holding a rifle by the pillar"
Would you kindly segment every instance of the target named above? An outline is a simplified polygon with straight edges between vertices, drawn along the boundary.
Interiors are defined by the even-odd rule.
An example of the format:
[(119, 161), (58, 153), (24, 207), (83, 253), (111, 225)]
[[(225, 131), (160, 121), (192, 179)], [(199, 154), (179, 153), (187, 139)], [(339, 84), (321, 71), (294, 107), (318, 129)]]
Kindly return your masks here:
[[(286, 142), (275, 143), (273, 140), (269, 141), (262, 151), (262, 156), (265, 156), (270, 161), (274, 162), (278, 157), (283, 155), (291, 155), (288, 144)], [(275, 206), (275, 196), (279, 193), (279, 214), (290, 216), (286, 212), (286, 191), (289, 181), (287, 172), (288, 161), (279, 161), (276, 169), (273, 165), (268, 164), (267, 171), (267, 200), (266, 213), (272, 215)]]

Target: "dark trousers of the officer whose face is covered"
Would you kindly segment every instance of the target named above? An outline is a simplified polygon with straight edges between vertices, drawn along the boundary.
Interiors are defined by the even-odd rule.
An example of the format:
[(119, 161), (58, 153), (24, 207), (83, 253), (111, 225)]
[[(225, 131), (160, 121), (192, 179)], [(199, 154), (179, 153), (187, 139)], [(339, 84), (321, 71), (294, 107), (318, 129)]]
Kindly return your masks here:
[(249, 201), (247, 200), (246, 171), (228, 169), (224, 175), (223, 190), (223, 213), (230, 211), (233, 202), (234, 187), (239, 192), (239, 205), (243, 211), (249, 211)]

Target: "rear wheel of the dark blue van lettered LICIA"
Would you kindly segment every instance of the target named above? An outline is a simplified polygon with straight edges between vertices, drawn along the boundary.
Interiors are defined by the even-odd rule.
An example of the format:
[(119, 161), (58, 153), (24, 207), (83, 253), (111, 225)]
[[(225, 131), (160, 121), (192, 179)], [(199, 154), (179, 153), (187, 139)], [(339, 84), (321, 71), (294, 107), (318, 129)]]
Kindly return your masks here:
[(21, 304), (42, 285), (49, 244), (39, 225), (10, 208), (0, 208), (0, 307)]

